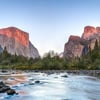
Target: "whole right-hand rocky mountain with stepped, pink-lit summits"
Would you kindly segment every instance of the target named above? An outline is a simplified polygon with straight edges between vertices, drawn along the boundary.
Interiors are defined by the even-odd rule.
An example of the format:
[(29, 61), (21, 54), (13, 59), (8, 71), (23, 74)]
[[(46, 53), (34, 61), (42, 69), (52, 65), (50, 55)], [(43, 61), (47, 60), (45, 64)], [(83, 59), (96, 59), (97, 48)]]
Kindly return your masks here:
[(86, 26), (82, 37), (73, 35), (69, 37), (64, 46), (63, 56), (65, 58), (76, 58), (86, 55), (89, 48), (94, 49), (96, 40), (100, 44), (100, 27)]

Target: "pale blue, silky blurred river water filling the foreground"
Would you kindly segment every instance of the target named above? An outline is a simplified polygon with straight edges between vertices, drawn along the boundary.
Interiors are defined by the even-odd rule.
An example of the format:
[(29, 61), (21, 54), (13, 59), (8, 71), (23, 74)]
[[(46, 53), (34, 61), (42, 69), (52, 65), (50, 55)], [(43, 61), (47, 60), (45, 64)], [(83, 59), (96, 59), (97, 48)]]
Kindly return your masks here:
[[(62, 77), (64, 75), (68, 77)], [(100, 100), (100, 80), (96, 77), (26, 73), (5, 78), (6, 83), (19, 94), (8, 96), (3, 93), (0, 100)]]

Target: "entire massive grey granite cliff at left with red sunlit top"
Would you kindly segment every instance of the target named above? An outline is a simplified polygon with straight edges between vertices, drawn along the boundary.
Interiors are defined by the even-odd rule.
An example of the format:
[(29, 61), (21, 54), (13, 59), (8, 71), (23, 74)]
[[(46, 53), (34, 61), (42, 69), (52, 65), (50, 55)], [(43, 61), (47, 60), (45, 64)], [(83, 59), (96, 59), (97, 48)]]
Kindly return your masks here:
[(29, 40), (29, 34), (16, 27), (0, 29), (0, 50), (7, 48), (7, 51), (14, 55), (38, 58), (38, 50)]

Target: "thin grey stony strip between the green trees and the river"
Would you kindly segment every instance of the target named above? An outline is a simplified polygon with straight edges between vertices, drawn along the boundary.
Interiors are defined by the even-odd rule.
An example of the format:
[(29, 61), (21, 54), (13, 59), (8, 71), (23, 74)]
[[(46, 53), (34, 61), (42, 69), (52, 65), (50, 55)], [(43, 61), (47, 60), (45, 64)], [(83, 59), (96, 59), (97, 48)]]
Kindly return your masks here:
[(0, 75), (20, 75), (23, 73), (29, 72), (41, 72), (41, 73), (68, 73), (68, 74), (76, 74), (76, 75), (90, 75), (95, 77), (100, 77), (100, 70), (2, 70), (0, 69)]

